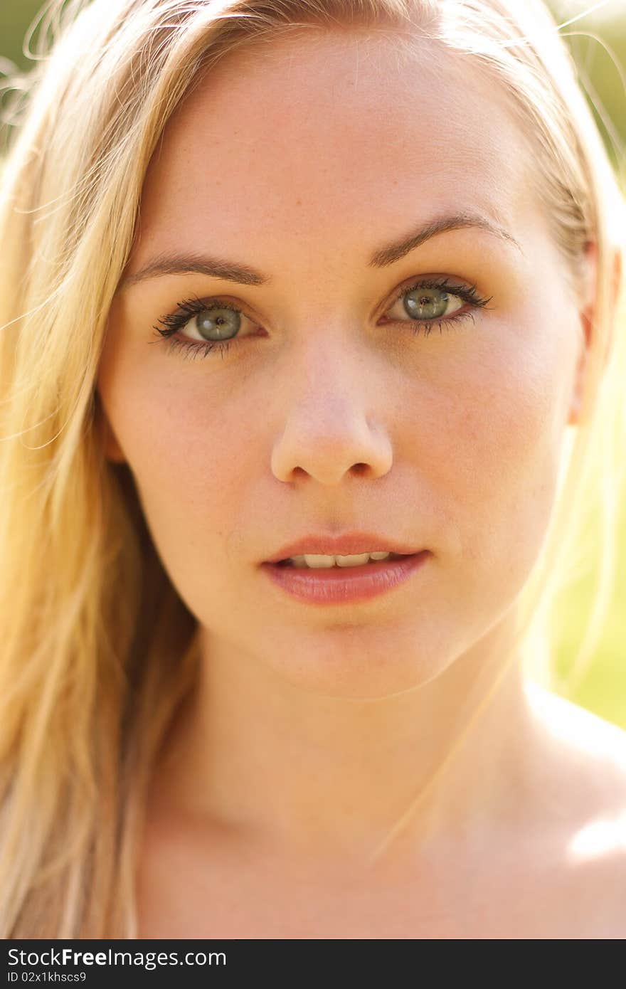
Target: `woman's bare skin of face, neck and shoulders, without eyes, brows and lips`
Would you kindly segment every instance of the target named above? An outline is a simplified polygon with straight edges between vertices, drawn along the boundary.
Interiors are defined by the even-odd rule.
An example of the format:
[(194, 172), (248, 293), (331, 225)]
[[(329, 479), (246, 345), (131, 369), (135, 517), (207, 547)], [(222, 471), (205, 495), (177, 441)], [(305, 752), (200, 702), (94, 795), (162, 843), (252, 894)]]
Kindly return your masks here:
[[(449, 53), (400, 50), (352, 29), (239, 51), (146, 175), (127, 276), (179, 251), (271, 282), (123, 282), (110, 313), (107, 454), (202, 628), (200, 685), (148, 795), (139, 937), (626, 934), (623, 734), (529, 689), (514, 645), (591, 300), (503, 98)], [(460, 210), (507, 236), (450, 230), (368, 266)], [(396, 300), (416, 276), (476, 285), (490, 308), (414, 335)], [(192, 295), (240, 307), (239, 346), (195, 361), (148, 346)], [(200, 338), (193, 319), (185, 334)], [(259, 570), (307, 532), (355, 528), (431, 556), (342, 606)]]

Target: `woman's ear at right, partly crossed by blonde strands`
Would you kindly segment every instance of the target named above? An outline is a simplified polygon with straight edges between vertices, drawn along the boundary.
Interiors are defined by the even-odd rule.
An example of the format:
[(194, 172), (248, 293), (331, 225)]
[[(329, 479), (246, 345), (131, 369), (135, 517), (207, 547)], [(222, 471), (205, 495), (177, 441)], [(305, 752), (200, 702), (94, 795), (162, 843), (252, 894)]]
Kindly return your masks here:
[[(614, 314), (622, 280), (622, 254), (619, 248), (613, 249), (610, 263), (612, 267), (612, 278), (610, 284), (609, 305), (611, 312)], [(579, 425), (582, 420), (581, 409), (586, 384), (589, 353), (591, 343), (594, 340), (596, 333), (595, 311), (597, 298), (597, 244), (594, 241), (589, 241), (585, 246), (583, 273), (584, 285), (581, 308), (579, 311), (581, 319), (581, 349), (579, 351), (579, 358), (574, 379), (574, 391), (572, 394), (570, 416), (568, 418), (569, 425)], [(614, 323), (611, 322), (611, 325), (614, 325)], [(606, 363), (611, 355), (613, 342), (614, 335), (613, 332), (611, 332), (609, 338), (604, 342), (604, 349), (602, 353), (603, 367), (606, 366)]]

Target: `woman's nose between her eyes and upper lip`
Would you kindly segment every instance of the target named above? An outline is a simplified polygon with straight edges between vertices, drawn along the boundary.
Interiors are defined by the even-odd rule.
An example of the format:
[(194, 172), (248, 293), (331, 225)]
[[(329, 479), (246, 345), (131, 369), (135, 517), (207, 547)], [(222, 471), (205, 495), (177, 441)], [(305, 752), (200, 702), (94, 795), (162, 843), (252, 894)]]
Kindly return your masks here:
[[(293, 482), (308, 475), (325, 486), (346, 474), (371, 480), (387, 474), (392, 443), (384, 420), (385, 389), (366, 374), (348, 345), (317, 346), (304, 371), (290, 375), (281, 390), (283, 428), (272, 449), (272, 473)], [(302, 366), (302, 365), (301, 365)], [(380, 396), (377, 402), (374, 396)]]

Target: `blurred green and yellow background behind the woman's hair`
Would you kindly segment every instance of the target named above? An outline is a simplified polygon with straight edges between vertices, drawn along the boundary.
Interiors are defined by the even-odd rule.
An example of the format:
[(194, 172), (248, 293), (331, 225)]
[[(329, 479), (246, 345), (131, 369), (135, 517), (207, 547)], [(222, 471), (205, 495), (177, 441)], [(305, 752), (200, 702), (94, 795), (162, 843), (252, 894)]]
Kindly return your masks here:
[[(519, 0), (523, 3), (524, 0)], [(559, 23), (577, 18), (562, 28), (562, 34), (579, 67), (579, 74), (590, 98), (593, 112), (611, 160), (621, 170), (624, 184), (626, 144), (626, 0), (581, 3), (580, 0), (552, 0), (550, 6)], [(593, 10), (592, 8), (596, 9)], [(0, 0), (0, 78), (13, 66), (26, 70), (32, 60), (24, 54), (29, 25), (42, 8), (42, 0)], [(582, 17), (579, 17), (583, 14)], [(35, 45), (32, 45), (35, 47)], [(626, 332), (626, 313), (620, 322)], [(625, 390), (626, 391), (626, 390)], [(626, 400), (625, 400), (626, 401)], [(626, 497), (620, 499), (618, 567), (612, 601), (603, 631), (585, 673), (568, 688), (572, 700), (601, 717), (626, 728)], [(597, 568), (592, 567), (568, 590), (562, 607), (564, 634), (557, 656), (557, 667), (565, 675), (581, 640), (589, 613)]]

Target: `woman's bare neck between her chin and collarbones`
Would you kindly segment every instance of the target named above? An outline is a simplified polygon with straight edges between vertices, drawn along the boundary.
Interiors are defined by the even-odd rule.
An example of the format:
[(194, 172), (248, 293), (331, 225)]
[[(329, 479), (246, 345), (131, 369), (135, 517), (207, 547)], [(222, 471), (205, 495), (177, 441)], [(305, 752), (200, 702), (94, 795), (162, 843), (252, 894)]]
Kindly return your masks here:
[(155, 776), (160, 806), (293, 854), (361, 863), (497, 815), (524, 760), (511, 617), (428, 683), (366, 701), (304, 692), (201, 637), (198, 686)]

